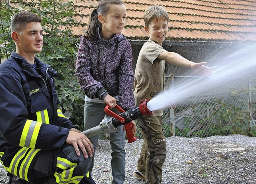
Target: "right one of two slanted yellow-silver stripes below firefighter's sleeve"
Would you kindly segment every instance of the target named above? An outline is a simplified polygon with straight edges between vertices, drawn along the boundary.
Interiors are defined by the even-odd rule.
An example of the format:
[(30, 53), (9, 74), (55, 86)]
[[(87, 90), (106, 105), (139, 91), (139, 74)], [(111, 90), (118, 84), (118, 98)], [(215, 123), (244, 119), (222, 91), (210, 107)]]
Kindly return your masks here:
[(40, 149), (30, 149), (25, 159), (21, 163), (19, 172), (20, 178), (28, 181), (28, 168), (30, 167), (31, 162), (34, 159), (36, 153), (38, 153), (38, 151), (40, 151)]

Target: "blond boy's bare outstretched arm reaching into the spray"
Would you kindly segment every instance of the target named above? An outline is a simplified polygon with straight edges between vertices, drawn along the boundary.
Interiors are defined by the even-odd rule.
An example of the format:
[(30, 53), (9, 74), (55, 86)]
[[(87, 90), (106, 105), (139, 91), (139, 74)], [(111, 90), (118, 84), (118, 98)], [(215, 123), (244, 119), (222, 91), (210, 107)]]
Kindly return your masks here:
[(212, 69), (204, 65), (206, 62), (195, 63), (174, 52), (164, 51), (158, 55), (158, 58), (163, 59), (172, 65), (191, 68), (200, 76), (210, 76), (212, 74)]

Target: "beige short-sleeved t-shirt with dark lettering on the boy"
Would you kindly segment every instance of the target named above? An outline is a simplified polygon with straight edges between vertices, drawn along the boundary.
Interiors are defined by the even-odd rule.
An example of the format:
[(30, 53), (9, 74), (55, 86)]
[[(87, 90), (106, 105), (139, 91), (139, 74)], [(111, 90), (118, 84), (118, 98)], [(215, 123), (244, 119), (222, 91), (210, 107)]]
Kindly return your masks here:
[[(141, 100), (151, 100), (156, 94), (164, 90), (164, 67), (165, 61), (158, 59), (158, 55), (166, 51), (148, 39), (142, 46), (134, 74), (134, 97), (135, 105)], [(162, 109), (156, 110), (154, 115), (162, 115)]]

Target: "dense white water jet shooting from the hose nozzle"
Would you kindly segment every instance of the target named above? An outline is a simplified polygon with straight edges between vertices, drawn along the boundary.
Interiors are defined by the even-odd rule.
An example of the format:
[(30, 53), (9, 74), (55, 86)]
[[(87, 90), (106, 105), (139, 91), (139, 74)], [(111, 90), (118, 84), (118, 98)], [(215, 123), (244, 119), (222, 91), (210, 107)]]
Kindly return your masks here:
[(175, 88), (159, 93), (148, 102), (149, 110), (159, 110), (187, 103), (191, 98), (201, 96), (204, 98), (218, 93), (231, 82), (235, 83), (239, 78), (256, 77), (256, 44), (248, 45), (223, 57), (221, 61), (215, 61), (212, 67), (213, 73), (208, 77), (190, 77), (190, 81), (182, 81)]

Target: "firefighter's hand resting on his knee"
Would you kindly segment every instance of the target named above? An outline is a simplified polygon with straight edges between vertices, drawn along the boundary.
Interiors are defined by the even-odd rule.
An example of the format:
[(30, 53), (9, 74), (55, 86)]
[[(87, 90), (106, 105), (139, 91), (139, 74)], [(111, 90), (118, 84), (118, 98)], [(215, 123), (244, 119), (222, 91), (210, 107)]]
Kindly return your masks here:
[(68, 137), (66, 139), (66, 143), (74, 146), (76, 155), (78, 157), (80, 156), (80, 151), (79, 151), (78, 147), (80, 147), (80, 149), (83, 152), (84, 158), (88, 159), (86, 150), (88, 151), (88, 154), (90, 157), (92, 157), (92, 153), (94, 153), (92, 143), (86, 137), (86, 135), (79, 133), (77, 131), (79, 131), (79, 130), (74, 131), (73, 128), (70, 129), (70, 131), (68, 133)]

